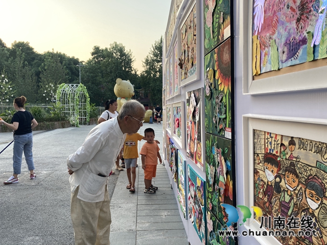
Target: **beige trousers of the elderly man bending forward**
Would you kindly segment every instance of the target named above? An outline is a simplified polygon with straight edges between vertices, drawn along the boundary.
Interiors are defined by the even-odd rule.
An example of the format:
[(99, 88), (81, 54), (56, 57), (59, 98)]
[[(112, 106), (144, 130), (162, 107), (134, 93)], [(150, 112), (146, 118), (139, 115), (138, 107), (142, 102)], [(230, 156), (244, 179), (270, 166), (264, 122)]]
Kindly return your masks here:
[(110, 245), (110, 199), (105, 188), (104, 201), (84, 202), (77, 198), (79, 186), (71, 195), (71, 216), (76, 245)]

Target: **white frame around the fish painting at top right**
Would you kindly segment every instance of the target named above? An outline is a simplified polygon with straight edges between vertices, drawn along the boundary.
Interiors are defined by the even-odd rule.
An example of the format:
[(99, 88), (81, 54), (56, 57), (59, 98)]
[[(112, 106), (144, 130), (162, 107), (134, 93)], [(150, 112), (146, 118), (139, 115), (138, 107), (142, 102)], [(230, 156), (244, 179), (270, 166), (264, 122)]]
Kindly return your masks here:
[[(327, 66), (299, 70), (285, 75), (253, 80), (252, 76), (253, 1), (240, 1), (239, 57), (242, 59), (243, 94), (265, 94), (327, 88)], [(243, 39), (243, 40), (242, 40)], [(326, 59), (327, 62), (327, 58)], [(312, 61), (311, 61), (312, 62)], [(309, 82), (310, 81), (310, 82)]]

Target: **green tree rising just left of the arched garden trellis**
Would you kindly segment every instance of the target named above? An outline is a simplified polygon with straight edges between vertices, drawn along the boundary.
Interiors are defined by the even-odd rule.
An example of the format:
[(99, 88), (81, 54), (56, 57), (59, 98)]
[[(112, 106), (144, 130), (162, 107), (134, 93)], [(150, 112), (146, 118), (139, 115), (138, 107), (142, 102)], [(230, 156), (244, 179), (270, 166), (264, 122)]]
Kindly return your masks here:
[(60, 63), (58, 53), (45, 54), (44, 63), (40, 67), (39, 99), (42, 102), (53, 102), (59, 84), (68, 83), (67, 70)]

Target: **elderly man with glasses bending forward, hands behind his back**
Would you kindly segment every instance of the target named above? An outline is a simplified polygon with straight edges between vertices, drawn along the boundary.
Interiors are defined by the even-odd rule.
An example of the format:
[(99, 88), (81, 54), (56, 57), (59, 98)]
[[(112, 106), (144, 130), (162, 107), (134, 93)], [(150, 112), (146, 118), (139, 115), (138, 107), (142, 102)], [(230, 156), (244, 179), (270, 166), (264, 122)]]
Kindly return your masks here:
[(126, 133), (136, 133), (143, 126), (144, 114), (141, 103), (126, 102), (117, 117), (92, 129), (83, 145), (68, 157), (75, 244), (110, 244), (107, 179)]

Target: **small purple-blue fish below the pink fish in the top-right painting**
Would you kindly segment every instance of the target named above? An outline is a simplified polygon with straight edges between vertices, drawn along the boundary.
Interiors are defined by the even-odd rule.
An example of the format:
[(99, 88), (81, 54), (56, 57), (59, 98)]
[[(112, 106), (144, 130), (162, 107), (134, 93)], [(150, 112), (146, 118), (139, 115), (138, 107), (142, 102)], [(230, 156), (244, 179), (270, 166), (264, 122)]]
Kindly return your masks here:
[(297, 60), (300, 53), (300, 48), (308, 43), (306, 36), (300, 36), (298, 38), (291, 38), (289, 41), (283, 44), (281, 52), (279, 52), (279, 58), (282, 63), (288, 60)]

